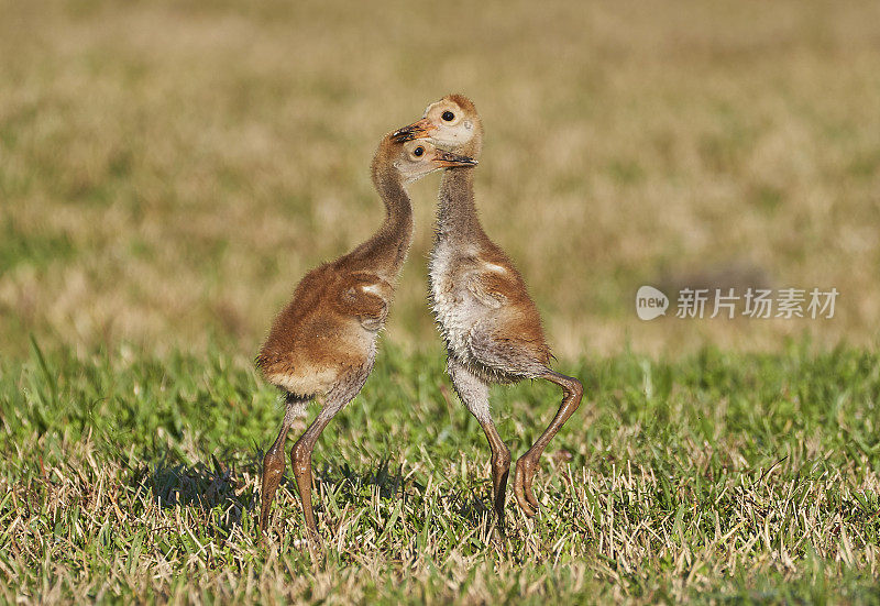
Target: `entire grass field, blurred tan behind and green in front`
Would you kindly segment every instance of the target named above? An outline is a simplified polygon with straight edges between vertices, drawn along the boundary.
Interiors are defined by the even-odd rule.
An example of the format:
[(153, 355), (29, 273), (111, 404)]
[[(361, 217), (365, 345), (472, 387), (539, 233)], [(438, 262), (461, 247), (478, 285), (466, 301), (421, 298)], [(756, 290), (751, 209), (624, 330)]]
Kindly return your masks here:
[[(0, 0), (0, 602), (880, 603), (880, 3)], [(487, 232), (583, 408), (493, 535), (426, 305), (316, 450), (327, 560), (252, 366), (375, 230), (380, 137), (450, 91)], [(637, 319), (637, 288), (836, 288)], [(674, 304), (673, 304), (674, 305)], [(670, 313), (669, 316), (672, 316)], [(558, 394), (493, 394), (521, 454)]]

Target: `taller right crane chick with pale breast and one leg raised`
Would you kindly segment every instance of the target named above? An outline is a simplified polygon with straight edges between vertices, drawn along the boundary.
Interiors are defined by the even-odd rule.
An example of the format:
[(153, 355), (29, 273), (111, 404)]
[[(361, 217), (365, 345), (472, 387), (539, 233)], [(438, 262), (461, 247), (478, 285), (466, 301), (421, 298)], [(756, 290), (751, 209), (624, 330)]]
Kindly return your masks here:
[[(394, 135), (397, 141), (428, 139), (474, 158), (483, 146), (480, 115), (473, 102), (462, 95), (449, 95), (431, 103), (422, 120)], [(538, 509), (531, 485), (541, 453), (578, 409), (583, 386), (576, 378), (550, 368), (552, 354), (526, 283), (480, 224), (473, 170), (451, 167), (443, 172), (429, 279), (433, 312), (447, 344), (447, 371), (492, 449), (493, 500), (503, 528), (510, 451), (492, 420), (490, 384), (543, 378), (563, 392), (550, 426), (516, 462), (514, 493), (529, 517)]]

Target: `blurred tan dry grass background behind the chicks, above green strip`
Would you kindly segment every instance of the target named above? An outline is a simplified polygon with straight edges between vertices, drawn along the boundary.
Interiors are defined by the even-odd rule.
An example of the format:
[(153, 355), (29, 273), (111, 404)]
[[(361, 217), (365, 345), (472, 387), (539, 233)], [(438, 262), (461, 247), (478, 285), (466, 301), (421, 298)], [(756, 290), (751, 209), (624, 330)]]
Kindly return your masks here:
[[(380, 137), (451, 91), (487, 233), (560, 357), (880, 339), (880, 3), (0, 0), (0, 351), (252, 356), (383, 218)], [(388, 326), (426, 302), (439, 176)], [(673, 298), (644, 322), (635, 294)], [(834, 319), (681, 320), (685, 285), (836, 287)]]

